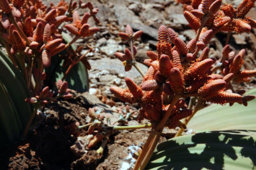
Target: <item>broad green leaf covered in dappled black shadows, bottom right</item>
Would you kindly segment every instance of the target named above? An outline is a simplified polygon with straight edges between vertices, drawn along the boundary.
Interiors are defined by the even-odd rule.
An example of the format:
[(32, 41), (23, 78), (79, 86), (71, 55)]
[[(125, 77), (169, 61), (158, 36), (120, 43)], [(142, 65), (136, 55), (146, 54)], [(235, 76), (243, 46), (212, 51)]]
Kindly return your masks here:
[(256, 169), (256, 131), (202, 132), (158, 144), (145, 169)]

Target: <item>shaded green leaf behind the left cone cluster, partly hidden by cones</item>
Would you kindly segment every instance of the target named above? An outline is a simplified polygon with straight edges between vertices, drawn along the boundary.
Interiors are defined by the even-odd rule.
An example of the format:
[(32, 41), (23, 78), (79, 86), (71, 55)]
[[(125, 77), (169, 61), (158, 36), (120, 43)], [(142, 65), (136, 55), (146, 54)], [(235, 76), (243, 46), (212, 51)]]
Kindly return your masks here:
[[(72, 40), (69, 34), (62, 32), (62, 36), (63, 39), (67, 42), (70, 42)], [(74, 51), (76, 50), (75, 44), (72, 44), (71, 47)], [(61, 53), (53, 56), (50, 67), (46, 69), (46, 74), (50, 75), (48, 76), (47, 81), (49, 81), (51, 85), (53, 85), (59, 79), (62, 79), (66, 70), (68, 69), (68, 67), (62, 67), (62, 63), (64, 60), (61, 60), (61, 58), (58, 57), (59, 55), (61, 56), (65, 54), (67, 54), (67, 52), (62, 51)], [(88, 71), (81, 62), (78, 62), (71, 68), (65, 81), (68, 82), (70, 89), (76, 90), (78, 92), (88, 91), (89, 89)]]

